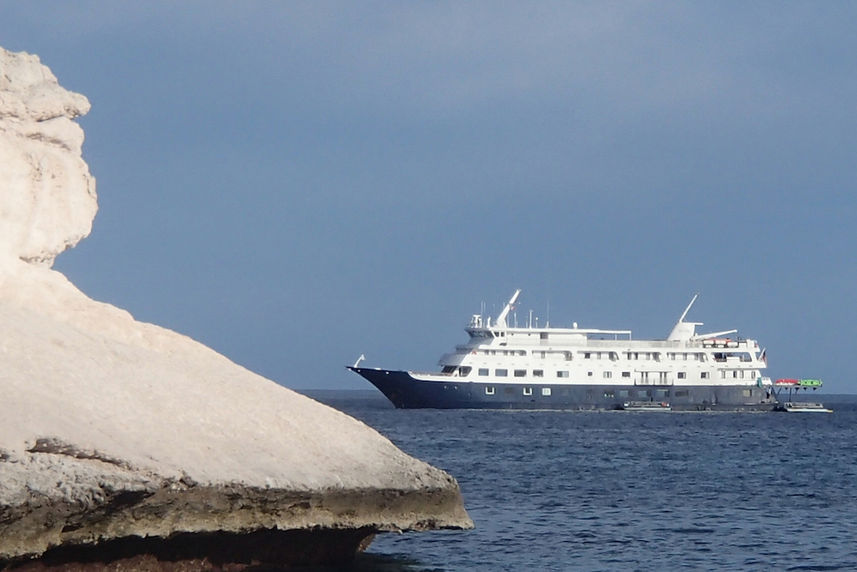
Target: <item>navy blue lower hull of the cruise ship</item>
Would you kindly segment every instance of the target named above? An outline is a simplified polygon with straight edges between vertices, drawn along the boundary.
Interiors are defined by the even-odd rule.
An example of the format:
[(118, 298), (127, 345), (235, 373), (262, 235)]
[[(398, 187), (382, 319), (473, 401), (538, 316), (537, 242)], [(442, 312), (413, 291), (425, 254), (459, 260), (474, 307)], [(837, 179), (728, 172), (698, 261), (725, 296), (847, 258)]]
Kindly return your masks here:
[(672, 411), (771, 411), (770, 390), (746, 385), (607, 385), (421, 379), (411, 372), (349, 367), (401, 409), (616, 410), (629, 401)]

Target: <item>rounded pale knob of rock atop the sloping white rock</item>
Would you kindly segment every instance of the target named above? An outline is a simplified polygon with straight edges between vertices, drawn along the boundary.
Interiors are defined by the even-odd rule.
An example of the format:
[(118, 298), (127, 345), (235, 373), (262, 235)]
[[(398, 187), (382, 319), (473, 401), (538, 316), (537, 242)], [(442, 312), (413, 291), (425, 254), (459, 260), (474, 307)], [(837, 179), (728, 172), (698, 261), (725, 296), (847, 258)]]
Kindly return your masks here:
[(0, 48), (0, 264), (50, 266), (86, 237), (97, 209), (95, 179), (81, 157), (89, 111), (37, 56)]

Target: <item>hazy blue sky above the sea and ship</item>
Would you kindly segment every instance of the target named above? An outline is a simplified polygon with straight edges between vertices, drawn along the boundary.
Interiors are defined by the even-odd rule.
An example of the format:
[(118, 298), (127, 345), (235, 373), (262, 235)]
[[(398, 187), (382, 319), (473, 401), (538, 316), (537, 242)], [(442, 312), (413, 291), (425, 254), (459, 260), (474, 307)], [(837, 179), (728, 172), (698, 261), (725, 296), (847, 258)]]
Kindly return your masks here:
[(515, 288), (857, 393), (857, 5), (2, 2), (86, 95), (91, 297), (293, 388), (431, 369)]

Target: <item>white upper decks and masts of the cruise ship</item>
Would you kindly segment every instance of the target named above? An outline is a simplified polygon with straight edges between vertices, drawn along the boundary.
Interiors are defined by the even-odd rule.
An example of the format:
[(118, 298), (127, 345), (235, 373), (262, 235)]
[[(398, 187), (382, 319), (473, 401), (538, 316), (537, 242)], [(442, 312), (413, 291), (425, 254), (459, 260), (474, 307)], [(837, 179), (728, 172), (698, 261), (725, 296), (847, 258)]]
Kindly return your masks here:
[(507, 318), (516, 290), (493, 321), (475, 314), (468, 343), (440, 359), (440, 374), (417, 379), (457, 382), (599, 386), (769, 387), (765, 351), (755, 340), (727, 337), (737, 330), (697, 334), (701, 322), (685, 318), (694, 296), (664, 340), (635, 340), (630, 330), (512, 327)]

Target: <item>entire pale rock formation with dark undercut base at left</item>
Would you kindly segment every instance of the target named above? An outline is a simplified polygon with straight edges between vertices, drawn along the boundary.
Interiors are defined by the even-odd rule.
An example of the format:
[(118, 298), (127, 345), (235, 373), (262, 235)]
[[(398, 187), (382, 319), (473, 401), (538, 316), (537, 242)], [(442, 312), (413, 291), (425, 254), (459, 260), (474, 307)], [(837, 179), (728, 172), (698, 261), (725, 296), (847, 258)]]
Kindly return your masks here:
[(472, 526), (448, 474), (50, 268), (97, 208), (88, 109), (0, 48), (0, 568), (338, 561)]

